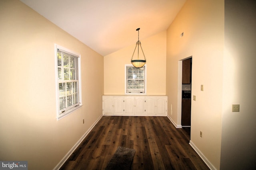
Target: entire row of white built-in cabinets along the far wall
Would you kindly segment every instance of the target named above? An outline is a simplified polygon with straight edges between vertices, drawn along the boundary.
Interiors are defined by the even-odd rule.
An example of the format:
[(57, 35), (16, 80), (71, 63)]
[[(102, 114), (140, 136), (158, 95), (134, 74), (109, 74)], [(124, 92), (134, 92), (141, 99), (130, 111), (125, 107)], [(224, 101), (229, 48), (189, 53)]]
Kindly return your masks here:
[(167, 115), (167, 96), (102, 96), (103, 115)]

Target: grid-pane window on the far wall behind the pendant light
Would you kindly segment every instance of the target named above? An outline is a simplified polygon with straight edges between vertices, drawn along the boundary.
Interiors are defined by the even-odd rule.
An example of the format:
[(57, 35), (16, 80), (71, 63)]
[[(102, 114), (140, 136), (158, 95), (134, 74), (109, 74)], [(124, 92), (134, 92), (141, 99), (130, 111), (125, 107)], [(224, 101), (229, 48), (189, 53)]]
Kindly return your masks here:
[(126, 93), (146, 93), (146, 66), (126, 66)]

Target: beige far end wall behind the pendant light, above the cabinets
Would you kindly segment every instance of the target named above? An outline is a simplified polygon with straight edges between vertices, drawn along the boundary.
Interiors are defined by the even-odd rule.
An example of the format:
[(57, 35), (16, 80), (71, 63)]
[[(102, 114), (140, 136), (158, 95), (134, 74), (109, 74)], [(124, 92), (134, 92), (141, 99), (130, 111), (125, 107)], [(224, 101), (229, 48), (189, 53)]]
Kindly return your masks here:
[[(140, 30), (140, 32), (143, 29)], [(137, 31), (134, 29), (134, 44), (104, 56), (104, 94), (124, 95), (125, 64), (131, 64), (136, 45)], [(147, 39), (140, 39), (147, 64), (147, 95), (166, 94), (166, 31)], [(143, 55), (140, 53), (140, 57)], [(138, 55), (134, 54), (138, 57)], [(141, 58), (140, 58), (141, 59)]]

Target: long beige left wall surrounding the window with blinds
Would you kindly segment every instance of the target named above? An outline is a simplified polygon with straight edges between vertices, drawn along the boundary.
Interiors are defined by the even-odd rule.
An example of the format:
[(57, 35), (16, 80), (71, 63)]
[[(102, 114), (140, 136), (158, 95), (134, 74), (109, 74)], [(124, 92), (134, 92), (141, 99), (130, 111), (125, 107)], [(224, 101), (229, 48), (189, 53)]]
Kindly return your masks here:
[[(18, 0), (0, 1), (0, 25), (0, 160), (53, 169), (102, 115), (103, 57)], [(84, 105), (59, 121), (54, 43), (82, 68)]]

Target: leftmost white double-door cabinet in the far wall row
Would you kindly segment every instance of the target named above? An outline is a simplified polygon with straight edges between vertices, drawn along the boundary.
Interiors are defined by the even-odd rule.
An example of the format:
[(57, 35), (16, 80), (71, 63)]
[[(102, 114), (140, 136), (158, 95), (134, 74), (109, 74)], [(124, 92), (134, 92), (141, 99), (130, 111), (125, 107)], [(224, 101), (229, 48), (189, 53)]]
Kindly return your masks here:
[(102, 96), (103, 115), (123, 115), (124, 96)]

